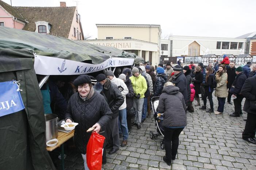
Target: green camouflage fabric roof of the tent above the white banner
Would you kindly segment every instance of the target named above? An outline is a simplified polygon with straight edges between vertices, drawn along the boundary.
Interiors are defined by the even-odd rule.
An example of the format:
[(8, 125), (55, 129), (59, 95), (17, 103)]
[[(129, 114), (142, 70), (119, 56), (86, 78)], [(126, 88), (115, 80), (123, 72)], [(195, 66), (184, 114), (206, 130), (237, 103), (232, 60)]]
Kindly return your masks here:
[[(79, 62), (100, 64), (108, 58), (134, 58), (134, 64), (144, 61), (135, 54), (108, 46), (99, 46), (62, 37), (0, 27), (0, 48), (28, 49), (38, 55), (58, 57)], [(26, 53), (29, 53), (27, 51)]]

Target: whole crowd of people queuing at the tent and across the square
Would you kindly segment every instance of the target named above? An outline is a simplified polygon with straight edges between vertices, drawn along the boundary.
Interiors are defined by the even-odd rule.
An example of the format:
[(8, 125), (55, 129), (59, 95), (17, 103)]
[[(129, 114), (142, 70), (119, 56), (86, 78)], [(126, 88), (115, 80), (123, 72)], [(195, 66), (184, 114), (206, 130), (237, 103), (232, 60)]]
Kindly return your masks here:
[[(49, 80), (41, 93), (45, 113), (65, 113), (58, 115), (66, 122), (79, 123), (74, 141), (84, 159), (85, 169), (88, 169), (86, 145), (90, 137), (90, 133), (86, 133), (87, 129), (95, 128), (97, 133), (104, 131), (102, 134), (106, 140), (103, 147), (110, 147), (108, 154), (114, 154), (120, 146), (127, 145), (131, 126), (141, 129), (141, 124), (150, 116), (150, 98), (160, 97), (157, 112), (164, 117), (166, 154), (163, 160), (171, 165), (177, 154), (179, 134), (187, 125), (187, 112), (192, 113), (195, 111), (194, 106), (200, 106), (198, 109), (205, 112), (223, 114), (226, 98), (228, 104), (234, 103), (234, 113), (229, 115), (231, 117), (243, 114), (241, 102), (246, 98), (244, 111), (248, 116), (242, 138), (256, 144), (256, 64), (252, 66), (252, 71), (251, 65), (248, 62), (236, 68), (235, 63), (226, 56), (219, 64), (210, 63), (208, 66), (202, 62), (197, 66), (193, 62), (185, 66), (179, 62), (173, 66), (167, 62), (155, 68), (141, 63), (132, 69), (118, 68), (115, 73), (108, 70), (96, 77), (72, 77), (65, 83)], [(214, 90), (218, 100), (215, 112)], [(208, 109), (207, 99), (210, 104)], [(123, 138), (121, 144), (120, 137)], [(102, 163), (106, 163), (106, 149), (103, 151)]]

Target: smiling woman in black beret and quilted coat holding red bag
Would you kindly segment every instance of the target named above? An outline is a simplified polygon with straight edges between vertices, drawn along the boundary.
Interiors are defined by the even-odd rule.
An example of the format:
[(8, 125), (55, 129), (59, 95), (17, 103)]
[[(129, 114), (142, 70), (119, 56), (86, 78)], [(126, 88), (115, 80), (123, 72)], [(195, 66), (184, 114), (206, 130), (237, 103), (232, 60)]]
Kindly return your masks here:
[(88, 75), (78, 76), (74, 80), (74, 85), (78, 92), (74, 93), (68, 101), (65, 121), (78, 123), (74, 131), (74, 142), (77, 150), (82, 154), (85, 169), (88, 169), (86, 147), (91, 133), (86, 131), (92, 127), (95, 128), (93, 131), (99, 133), (110, 121), (112, 112), (104, 97), (94, 92)]

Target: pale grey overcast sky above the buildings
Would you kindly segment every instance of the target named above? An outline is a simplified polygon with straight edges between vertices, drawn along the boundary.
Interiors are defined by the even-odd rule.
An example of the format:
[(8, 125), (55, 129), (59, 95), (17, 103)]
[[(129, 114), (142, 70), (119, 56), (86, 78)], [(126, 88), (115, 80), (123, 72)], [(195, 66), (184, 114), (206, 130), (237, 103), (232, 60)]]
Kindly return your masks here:
[[(11, 0), (3, 0), (10, 4)], [(56, 7), (60, 1), (12, 0), (13, 6)], [(256, 0), (78, 0), (84, 35), (95, 39), (95, 24), (159, 24), (162, 37), (237, 37), (256, 31)]]

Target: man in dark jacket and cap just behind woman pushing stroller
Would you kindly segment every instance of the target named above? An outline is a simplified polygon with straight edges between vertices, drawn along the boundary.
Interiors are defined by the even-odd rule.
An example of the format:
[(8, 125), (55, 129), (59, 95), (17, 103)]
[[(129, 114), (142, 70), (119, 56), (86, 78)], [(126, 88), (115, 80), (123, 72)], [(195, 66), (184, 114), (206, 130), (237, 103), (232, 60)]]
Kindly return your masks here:
[(187, 101), (187, 85), (186, 85), (186, 76), (182, 72), (182, 68), (179, 65), (173, 67), (174, 76), (172, 78), (172, 83), (177, 86), (180, 90), (179, 92), (183, 94), (184, 101)]

